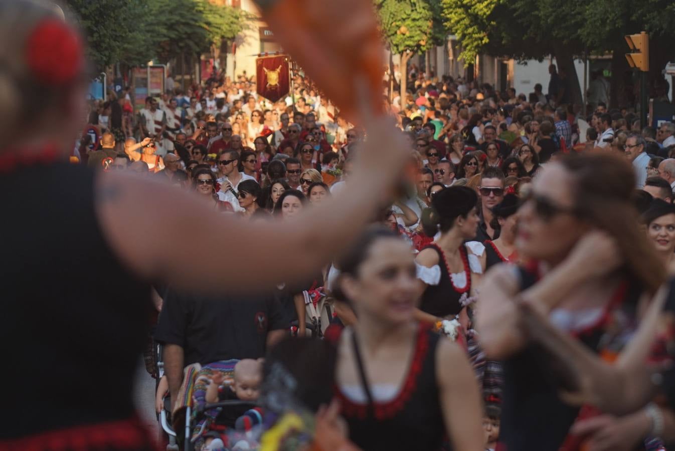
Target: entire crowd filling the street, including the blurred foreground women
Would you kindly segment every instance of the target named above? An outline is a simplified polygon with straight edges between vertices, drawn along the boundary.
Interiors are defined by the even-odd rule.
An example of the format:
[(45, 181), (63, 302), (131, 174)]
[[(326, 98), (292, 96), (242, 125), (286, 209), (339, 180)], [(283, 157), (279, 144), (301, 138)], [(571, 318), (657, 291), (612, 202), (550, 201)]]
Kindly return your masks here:
[(356, 125), (299, 75), (277, 102), (215, 73), (85, 111), (57, 11), (10, 0), (0, 24), (27, 49), (2, 46), (21, 63), (0, 82), (24, 96), (0, 98), (16, 112), (0, 192), (21, 212), (1, 226), (0, 338), (8, 362), (41, 353), (52, 371), (9, 390), (0, 449), (151, 449), (131, 389), (148, 343), (158, 411), (178, 415), (192, 384), (241, 402), (184, 437), (205, 450), (675, 443), (673, 123), (601, 101), (582, 115), (562, 84), (526, 96), (414, 70)]

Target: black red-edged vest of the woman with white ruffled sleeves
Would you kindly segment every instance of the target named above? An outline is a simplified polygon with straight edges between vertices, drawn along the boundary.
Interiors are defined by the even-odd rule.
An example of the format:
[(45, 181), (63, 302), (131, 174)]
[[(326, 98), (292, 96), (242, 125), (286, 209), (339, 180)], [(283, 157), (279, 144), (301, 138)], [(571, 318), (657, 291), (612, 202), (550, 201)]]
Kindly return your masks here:
[[(471, 270), (468, 265), (468, 251), (466, 245), (460, 246), (460, 255), (464, 262), (464, 273), (466, 274), (466, 286), (463, 289), (456, 289), (450, 278), (448, 262), (445, 260), (445, 254), (436, 244), (430, 244), (424, 249), (433, 249), (438, 254), (438, 266), (441, 268), (441, 280), (437, 285), (427, 285), (422, 295), (420, 309), (430, 315), (444, 318), (449, 315), (456, 315), (462, 311), (460, 298), (464, 293), (471, 293)], [(422, 249), (422, 250), (424, 250)]]

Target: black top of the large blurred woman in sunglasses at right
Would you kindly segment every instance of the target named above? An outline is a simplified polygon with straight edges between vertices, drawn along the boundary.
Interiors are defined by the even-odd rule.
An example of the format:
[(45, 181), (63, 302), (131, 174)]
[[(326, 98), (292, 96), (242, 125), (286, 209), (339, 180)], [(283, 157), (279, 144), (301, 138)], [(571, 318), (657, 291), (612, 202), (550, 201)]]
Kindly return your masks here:
[[(534, 270), (520, 270), (520, 291), (537, 282)], [(615, 295), (619, 305), (634, 308), (641, 294), (636, 282), (622, 284)], [(599, 328), (589, 328), (578, 340), (597, 352), (602, 338)], [(561, 389), (568, 386), (564, 368), (549, 358), (537, 344), (529, 344), (522, 351), (506, 359), (504, 365), (504, 392), (502, 425), (499, 442), (506, 451), (558, 450), (563, 444), (579, 408), (560, 400)]]

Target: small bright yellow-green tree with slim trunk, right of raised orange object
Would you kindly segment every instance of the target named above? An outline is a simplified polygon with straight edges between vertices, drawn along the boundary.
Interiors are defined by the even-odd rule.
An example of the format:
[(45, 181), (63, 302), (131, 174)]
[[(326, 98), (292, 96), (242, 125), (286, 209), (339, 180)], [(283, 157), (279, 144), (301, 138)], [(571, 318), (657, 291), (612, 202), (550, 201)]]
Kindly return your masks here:
[(440, 44), (445, 37), (439, 0), (375, 0), (380, 30), (389, 49), (401, 57), (401, 102), (410, 57)]

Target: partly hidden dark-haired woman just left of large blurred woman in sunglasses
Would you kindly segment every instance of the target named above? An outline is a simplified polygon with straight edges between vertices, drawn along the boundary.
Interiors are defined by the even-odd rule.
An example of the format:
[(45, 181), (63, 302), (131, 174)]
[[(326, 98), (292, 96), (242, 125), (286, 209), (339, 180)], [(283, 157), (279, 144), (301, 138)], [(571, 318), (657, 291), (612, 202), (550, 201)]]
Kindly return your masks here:
[(509, 193), (504, 200), (492, 208), (492, 228), (499, 229), (499, 238), (486, 240), (485, 244), (485, 269), (496, 264), (509, 262), (516, 263), (518, 252), (516, 251), (516, 222), (518, 221), (518, 196)]

